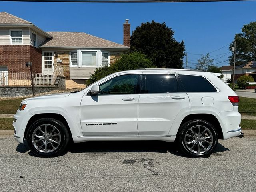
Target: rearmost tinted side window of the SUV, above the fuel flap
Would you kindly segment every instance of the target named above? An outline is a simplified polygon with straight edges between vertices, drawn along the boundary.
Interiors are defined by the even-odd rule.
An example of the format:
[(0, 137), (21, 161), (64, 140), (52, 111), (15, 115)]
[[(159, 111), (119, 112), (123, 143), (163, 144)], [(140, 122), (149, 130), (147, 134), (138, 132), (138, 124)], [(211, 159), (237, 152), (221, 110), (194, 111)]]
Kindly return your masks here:
[(179, 75), (186, 92), (216, 92), (216, 88), (202, 76)]

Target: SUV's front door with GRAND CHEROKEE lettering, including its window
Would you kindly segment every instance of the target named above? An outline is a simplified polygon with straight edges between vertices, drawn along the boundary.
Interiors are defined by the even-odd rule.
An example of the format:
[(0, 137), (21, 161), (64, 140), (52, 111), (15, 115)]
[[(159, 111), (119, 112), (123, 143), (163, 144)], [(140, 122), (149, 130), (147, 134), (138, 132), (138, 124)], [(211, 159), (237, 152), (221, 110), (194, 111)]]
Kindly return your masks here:
[(99, 83), (100, 93), (84, 95), (80, 117), (88, 136), (138, 135), (141, 72), (116, 75)]

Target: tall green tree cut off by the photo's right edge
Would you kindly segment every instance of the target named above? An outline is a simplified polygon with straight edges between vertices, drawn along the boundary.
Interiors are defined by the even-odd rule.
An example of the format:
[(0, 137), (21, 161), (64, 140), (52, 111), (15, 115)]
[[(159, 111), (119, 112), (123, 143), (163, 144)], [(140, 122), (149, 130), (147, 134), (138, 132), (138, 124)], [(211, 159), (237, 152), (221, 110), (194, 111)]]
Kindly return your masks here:
[[(256, 22), (245, 24), (241, 33), (235, 34), (236, 40), (236, 65), (246, 64), (256, 60)], [(234, 47), (234, 41), (230, 44)], [(234, 53), (229, 57), (229, 64), (234, 64)]]

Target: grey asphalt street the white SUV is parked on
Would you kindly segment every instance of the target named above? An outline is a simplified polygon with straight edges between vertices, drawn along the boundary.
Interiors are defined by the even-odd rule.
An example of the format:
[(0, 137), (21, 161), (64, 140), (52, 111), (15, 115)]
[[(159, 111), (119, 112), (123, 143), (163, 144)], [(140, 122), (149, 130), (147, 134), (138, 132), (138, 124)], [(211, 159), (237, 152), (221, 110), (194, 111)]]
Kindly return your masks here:
[(256, 189), (256, 137), (219, 140), (209, 158), (182, 156), (166, 142), (84, 142), (38, 158), (0, 136), (0, 191), (225, 191)]

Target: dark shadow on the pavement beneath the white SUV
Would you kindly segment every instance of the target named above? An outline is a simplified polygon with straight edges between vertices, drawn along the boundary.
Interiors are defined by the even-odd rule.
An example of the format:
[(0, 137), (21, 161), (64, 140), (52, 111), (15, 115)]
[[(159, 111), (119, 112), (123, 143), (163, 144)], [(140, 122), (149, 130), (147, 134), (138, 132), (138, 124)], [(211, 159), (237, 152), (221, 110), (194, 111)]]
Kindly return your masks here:
[[(17, 152), (26, 153), (30, 151), (26, 141), (24, 144), (18, 144)], [(185, 157), (175, 143), (164, 141), (92, 141), (82, 143), (72, 143), (69, 146), (71, 153), (140, 153), (140, 152), (153, 152), (153, 153), (171, 153), (176, 156)], [(212, 155), (221, 156), (220, 152), (230, 151), (222, 144), (218, 143)], [(29, 155), (35, 156), (32, 152)]]

